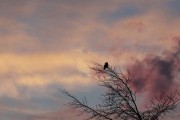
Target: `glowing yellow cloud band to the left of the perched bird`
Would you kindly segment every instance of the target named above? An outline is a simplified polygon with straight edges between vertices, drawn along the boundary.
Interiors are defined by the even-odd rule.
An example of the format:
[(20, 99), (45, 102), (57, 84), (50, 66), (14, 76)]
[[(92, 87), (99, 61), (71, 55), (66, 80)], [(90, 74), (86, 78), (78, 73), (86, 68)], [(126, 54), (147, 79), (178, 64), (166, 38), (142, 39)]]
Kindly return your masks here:
[(1, 95), (18, 96), (17, 88), (20, 86), (30, 88), (61, 84), (74, 88), (74, 85), (93, 84), (88, 75), (88, 58), (85, 54), (4, 54), (0, 55), (0, 59)]

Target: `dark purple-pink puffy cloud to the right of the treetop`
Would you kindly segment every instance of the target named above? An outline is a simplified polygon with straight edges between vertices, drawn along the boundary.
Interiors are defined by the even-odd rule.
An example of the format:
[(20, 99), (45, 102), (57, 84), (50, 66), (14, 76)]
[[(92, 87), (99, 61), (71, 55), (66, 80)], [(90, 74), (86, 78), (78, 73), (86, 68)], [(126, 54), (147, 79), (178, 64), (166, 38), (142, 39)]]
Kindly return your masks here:
[(179, 41), (177, 43), (174, 51), (166, 51), (162, 56), (149, 55), (128, 67), (132, 86), (137, 92), (148, 91), (150, 96), (154, 96), (159, 91), (177, 88), (176, 78), (180, 69)]

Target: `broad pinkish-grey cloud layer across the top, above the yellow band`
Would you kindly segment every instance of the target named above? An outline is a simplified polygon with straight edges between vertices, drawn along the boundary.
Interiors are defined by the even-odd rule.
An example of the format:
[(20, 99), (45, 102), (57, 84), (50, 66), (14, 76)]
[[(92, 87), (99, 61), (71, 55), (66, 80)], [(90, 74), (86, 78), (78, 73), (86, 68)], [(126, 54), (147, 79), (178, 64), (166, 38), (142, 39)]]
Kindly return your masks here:
[[(155, 7), (152, 6), (156, 2), (146, 3), (142, 0), (138, 0), (138, 4), (136, 2), (106, 0), (74, 3), (62, 0), (21, 2), (21, 4), (18, 2), (14, 6), (11, 2), (5, 2), (4, 4), (9, 7), (3, 9), (8, 8), (8, 11), (16, 12), (23, 17), (15, 15), (10, 19), (9, 13), (7, 14), (9, 16), (1, 17), (4, 21), (0, 27), (6, 34), (1, 35), (0, 51), (31, 54), (65, 52), (78, 48), (107, 54), (112, 48), (120, 49), (114, 49), (113, 53), (142, 48), (140, 51), (142, 52), (143, 47), (147, 46), (143, 43), (150, 43), (149, 49), (152, 49), (152, 46), (152, 50), (161, 49), (159, 44), (164, 45), (165, 40), (159, 39), (169, 37), (171, 34), (179, 35), (176, 27), (179, 25), (178, 18), (172, 21), (163, 14), (164, 11), (156, 11), (158, 8), (164, 8), (168, 4), (167, 1), (163, 2), (162, 6), (158, 6), (160, 3), (157, 2)], [(31, 14), (27, 14), (24, 8)], [(128, 8), (138, 9), (140, 13), (128, 15), (126, 14)], [(113, 18), (117, 17), (116, 13), (129, 17)], [(103, 15), (116, 21), (106, 23)], [(171, 29), (169, 35), (165, 35), (169, 32), (167, 27)]]

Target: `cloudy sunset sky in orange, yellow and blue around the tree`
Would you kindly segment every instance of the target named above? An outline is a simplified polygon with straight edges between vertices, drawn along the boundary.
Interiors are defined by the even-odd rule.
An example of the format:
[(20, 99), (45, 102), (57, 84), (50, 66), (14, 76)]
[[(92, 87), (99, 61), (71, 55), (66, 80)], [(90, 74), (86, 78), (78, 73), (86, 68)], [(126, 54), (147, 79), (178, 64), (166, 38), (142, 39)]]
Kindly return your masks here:
[[(171, 71), (157, 76), (169, 77), (162, 79), (167, 84), (137, 80), (134, 87), (149, 94), (178, 87), (179, 11), (180, 0), (0, 0), (0, 119), (85, 118), (58, 89), (99, 102), (92, 61), (144, 73), (141, 63), (164, 60), (159, 66), (167, 63)], [(177, 108), (165, 119), (179, 116)]]

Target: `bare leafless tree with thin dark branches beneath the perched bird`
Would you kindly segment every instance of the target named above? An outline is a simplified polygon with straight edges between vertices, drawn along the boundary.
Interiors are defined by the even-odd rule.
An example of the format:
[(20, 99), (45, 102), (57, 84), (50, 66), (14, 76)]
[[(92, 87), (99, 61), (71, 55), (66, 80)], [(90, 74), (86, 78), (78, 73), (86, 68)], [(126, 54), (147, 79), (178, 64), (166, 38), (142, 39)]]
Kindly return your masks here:
[(140, 111), (136, 103), (136, 93), (131, 87), (132, 78), (129, 72), (125, 75), (111, 67), (104, 70), (98, 63), (94, 63), (91, 70), (100, 80), (99, 85), (107, 88), (102, 95), (102, 102), (96, 107), (88, 106), (85, 97), (80, 101), (68, 91), (62, 90), (71, 98), (69, 106), (78, 109), (80, 113), (89, 114), (87, 120), (159, 120), (177, 108), (180, 100), (179, 92), (177, 90), (168, 93), (162, 91), (159, 96), (152, 99), (150, 106)]

